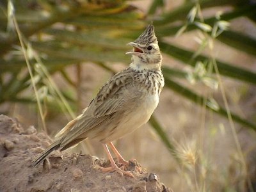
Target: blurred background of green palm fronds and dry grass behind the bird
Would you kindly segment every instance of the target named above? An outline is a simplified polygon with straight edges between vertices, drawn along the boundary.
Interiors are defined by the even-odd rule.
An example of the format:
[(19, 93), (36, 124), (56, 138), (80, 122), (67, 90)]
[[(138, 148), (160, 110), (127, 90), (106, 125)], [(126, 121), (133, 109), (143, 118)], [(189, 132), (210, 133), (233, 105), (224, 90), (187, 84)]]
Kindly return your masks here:
[[(173, 191), (256, 191), (256, 1), (0, 1), (0, 113), (51, 138), (127, 67), (150, 21), (164, 90), (115, 141)], [(72, 152), (106, 157), (100, 143)]]

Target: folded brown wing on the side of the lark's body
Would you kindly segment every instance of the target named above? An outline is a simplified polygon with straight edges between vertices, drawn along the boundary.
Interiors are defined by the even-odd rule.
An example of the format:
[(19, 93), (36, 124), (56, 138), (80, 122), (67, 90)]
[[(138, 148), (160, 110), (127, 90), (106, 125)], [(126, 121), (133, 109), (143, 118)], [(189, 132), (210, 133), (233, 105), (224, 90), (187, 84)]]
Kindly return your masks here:
[[(125, 90), (127, 86), (133, 86), (133, 77), (132, 70), (128, 68), (104, 84), (97, 96), (90, 102), (87, 110), (77, 118), (76, 124), (72, 125), (72, 128), (68, 129), (68, 132), (63, 136), (61, 146), (65, 146), (81, 136), (86, 138), (86, 132), (109, 120), (109, 117), (114, 113), (125, 110), (124, 105), (128, 103), (132, 105), (134, 102), (129, 102), (129, 99), (134, 100), (135, 97), (127, 97)], [(134, 93), (134, 95), (140, 94)]]

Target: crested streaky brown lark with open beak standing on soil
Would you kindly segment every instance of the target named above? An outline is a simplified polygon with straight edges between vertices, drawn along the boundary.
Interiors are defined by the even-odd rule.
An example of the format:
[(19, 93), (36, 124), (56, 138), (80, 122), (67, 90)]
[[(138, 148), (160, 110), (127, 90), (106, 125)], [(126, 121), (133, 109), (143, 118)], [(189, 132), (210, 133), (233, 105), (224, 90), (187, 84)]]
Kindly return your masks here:
[(148, 122), (159, 103), (164, 77), (162, 55), (152, 22), (134, 42), (127, 45), (132, 46), (132, 51), (126, 52), (131, 55), (129, 67), (116, 73), (100, 88), (88, 107), (58, 132), (52, 144), (32, 161), (32, 166), (40, 164), (54, 150), (66, 150), (89, 138), (101, 142), (108, 155), (111, 166), (101, 168), (103, 172), (134, 177), (115, 164), (108, 146), (119, 164), (129, 164), (112, 141)]

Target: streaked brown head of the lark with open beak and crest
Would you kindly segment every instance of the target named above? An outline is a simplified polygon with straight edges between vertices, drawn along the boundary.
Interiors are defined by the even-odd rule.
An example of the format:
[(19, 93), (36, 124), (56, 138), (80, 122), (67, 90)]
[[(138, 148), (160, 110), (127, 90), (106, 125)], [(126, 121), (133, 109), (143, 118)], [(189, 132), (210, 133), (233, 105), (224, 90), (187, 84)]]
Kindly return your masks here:
[(152, 23), (134, 42), (127, 45), (133, 47), (132, 51), (126, 52), (132, 54), (132, 68), (143, 70), (161, 67), (162, 56)]

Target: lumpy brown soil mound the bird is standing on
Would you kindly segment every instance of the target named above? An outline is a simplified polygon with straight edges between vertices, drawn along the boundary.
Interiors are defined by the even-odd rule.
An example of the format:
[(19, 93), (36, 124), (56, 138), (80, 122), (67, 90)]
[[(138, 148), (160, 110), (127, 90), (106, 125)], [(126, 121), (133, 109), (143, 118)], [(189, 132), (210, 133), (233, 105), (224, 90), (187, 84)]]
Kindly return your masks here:
[(134, 179), (102, 173), (100, 166), (109, 164), (105, 159), (67, 152), (53, 152), (49, 160), (31, 167), (49, 143), (51, 139), (33, 126), (23, 129), (17, 120), (0, 115), (0, 191), (171, 191), (134, 159), (128, 167)]

